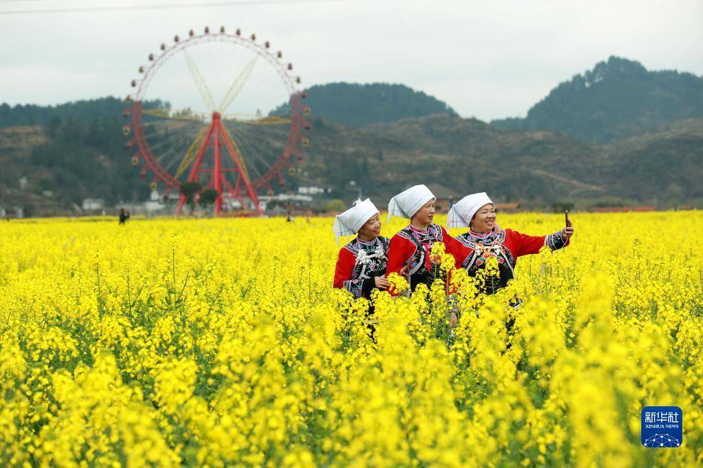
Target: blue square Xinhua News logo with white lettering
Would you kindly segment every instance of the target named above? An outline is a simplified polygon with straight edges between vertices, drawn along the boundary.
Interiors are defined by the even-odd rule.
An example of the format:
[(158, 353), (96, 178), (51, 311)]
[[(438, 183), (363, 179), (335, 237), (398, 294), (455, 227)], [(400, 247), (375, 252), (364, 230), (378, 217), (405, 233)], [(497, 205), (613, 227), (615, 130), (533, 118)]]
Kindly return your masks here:
[(683, 443), (683, 411), (678, 406), (645, 406), (642, 409), (642, 445), (674, 448)]

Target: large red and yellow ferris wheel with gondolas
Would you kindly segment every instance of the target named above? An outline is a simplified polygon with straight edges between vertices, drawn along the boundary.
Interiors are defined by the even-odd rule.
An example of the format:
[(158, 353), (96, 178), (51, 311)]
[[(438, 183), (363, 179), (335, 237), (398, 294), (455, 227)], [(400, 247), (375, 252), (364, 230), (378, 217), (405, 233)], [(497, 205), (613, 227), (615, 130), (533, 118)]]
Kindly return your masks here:
[[(131, 162), (142, 166), (141, 177), (152, 173), (151, 188), (162, 185), (165, 199), (180, 194), (177, 214), (186, 203), (184, 182), (217, 192), (215, 215), (245, 208), (247, 200), (261, 214), (259, 192), (285, 187), (309, 145), (303, 133), (311, 109), (292, 64), (269, 41), (224, 27), (174, 36), (148, 61), (131, 81), (131, 107), (123, 113), (130, 119), (123, 127), (127, 149), (135, 151)], [(213, 83), (220, 95), (212, 93)], [(264, 114), (266, 106), (273, 110)]]

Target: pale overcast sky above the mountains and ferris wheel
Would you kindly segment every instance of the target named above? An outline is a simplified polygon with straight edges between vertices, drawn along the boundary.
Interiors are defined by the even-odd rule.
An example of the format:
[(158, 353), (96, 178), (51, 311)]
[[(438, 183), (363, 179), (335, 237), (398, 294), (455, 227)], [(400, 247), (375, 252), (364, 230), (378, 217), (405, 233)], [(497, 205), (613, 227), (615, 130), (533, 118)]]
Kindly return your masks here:
[[(199, 2), (212, 3), (0, 0), (0, 11)], [(185, 36), (188, 29), (202, 31), (205, 25), (240, 27), (245, 34), (256, 32), (257, 40), (269, 39), (283, 50), (306, 86), (331, 81), (404, 83), (446, 101), (462, 116), (483, 120), (524, 116), (557, 83), (610, 55), (638, 60), (647, 69), (703, 75), (701, 0), (300, 1), (0, 15), (0, 102), (44, 105), (127, 95), (138, 66), (146, 65), (147, 55), (156, 53), (161, 42), (170, 44), (174, 34)], [(227, 57), (217, 60), (231, 76), (243, 64)], [(207, 51), (194, 58), (205, 68), (214, 62)], [(262, 72), (264, 65), (257, 63)], [(177, 83), (169, 77), (188, 76), (187, 67), (184, 59), (171, 66), (174, 71), (160, 76), (165, 95), (152, 97), (178, 98), (167, 95)], [(203, 74), (216, 88), (214, 95), (226, 92), (224, 81), (210, 77), (214, 72)], [(166, 83), (171, 83), (170, 89)], [(182, 86), (193, 91), (192, 83), (183, 81)], [(236, 111), (250, 112), (252, 99), (260, 99), (256, 107), (264, 111), (278, 102), (276, 93), (247, 86), (249, 101), (243, 100)], [(186, 91), (181, 97), (199, 99)]]

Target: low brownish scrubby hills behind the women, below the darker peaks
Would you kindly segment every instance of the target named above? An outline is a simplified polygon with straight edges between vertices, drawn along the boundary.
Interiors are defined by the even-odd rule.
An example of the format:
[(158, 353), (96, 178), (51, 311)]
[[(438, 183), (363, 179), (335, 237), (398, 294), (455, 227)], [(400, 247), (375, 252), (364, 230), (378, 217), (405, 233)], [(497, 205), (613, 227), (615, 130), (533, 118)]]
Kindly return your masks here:
[(605, 146), (442, 115), (361, 129), (315, 120), (310, 139), (303, 163), (310, 182), (340, 193), (361, 187), (387, 199), (408, 185), (431, 183), (453, 194), (485, 190), (497, 201), (703, 201), (703, 119)]

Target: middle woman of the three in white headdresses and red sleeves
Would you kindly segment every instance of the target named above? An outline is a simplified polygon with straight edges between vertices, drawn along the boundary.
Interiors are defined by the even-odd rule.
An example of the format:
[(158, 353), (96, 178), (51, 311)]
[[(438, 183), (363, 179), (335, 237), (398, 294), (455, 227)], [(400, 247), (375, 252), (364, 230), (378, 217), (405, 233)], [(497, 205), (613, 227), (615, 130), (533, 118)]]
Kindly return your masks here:
[(444, 242), (446, 252), (452, 254), (458, 246), (444, 227), (432, 222), (434, 200), (434, 194), (425, 185), (415, 185), (388, 203), (388, 220), (391, 216), (398, 216), (407, 218), (410, 224), (391, 239), (386, 274), (407, 272), (411, 290), (420, 283), (430, 286), (437, 277), (439, 265), (430, 260), (430, 250), (435, 242)]

